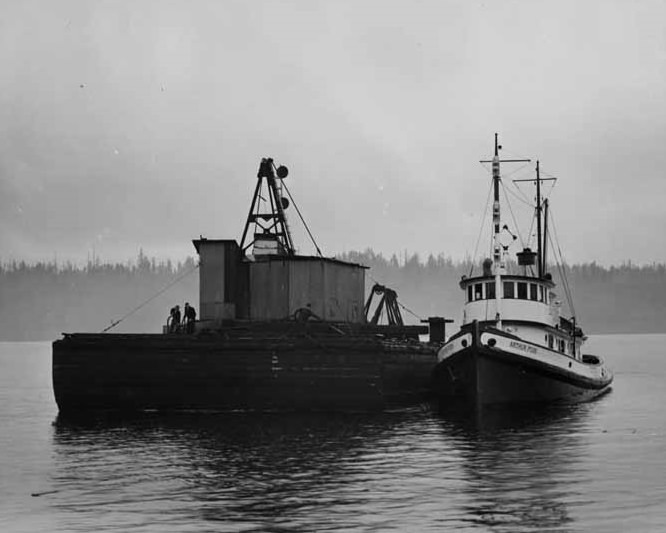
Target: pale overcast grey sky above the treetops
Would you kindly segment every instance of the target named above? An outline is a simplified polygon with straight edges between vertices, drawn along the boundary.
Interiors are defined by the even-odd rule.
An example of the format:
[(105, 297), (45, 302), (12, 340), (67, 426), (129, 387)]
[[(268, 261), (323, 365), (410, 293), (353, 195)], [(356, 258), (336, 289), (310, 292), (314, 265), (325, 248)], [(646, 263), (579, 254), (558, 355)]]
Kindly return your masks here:
[[(0, 8), (2, 262), (240, 240), (262, 157), (289, 168), (325, 255), (463, 259), (490, 226), (495, 132), (503, 157), (558, 178), (564, 260), (666, 262), (666, 1)], [(533, 199), (512, 180), (534, 163), (503, 171), (509, 198)], [(503, 218), (527, 238), (517, 203), (525, 218)]]

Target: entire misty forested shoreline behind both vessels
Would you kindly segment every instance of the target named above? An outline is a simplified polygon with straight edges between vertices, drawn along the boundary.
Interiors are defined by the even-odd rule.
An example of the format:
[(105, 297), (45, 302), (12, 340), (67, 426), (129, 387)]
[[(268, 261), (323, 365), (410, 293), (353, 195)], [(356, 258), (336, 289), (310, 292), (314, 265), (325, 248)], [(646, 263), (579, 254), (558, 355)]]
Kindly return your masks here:
[[(472, 268), (476, 275), (480, 272), (471, 261), (443, 254), (386, 258), (368, 249), (337, 258), (370, 267), (366, 294), (375, 282), (396, 290), (408, 323), (444, 316), (457, 327), (463, 304), (460, 278)], [(666, 265), (586, 263), (561, 270), (586, 333), (666, 333)], [(564, 313), (570, 316), (561, 273), (553, 267), (552, 274)], [(0, 341), (55, 340), (63, 332), (100, 332), (119, 320), (111, 331), (158, 333), (169, 309), (185, 302), (198, 310), (194, 258), (162, 262), (141, 252), (124, 264), (13, 261), (0, 265)]]

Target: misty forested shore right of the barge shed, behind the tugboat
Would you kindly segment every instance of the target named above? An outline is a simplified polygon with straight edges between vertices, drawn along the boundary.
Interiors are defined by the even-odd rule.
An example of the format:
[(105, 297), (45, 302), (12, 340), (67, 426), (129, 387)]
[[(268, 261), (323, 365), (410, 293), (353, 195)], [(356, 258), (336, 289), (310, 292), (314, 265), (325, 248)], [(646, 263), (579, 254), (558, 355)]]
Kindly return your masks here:
[[(371, 267), (369, 276), (398, 292), (398, 300), (408, 310), (403, 309), (404, 318), (413, 321), (416, 317), (409, 311), (419, 319), (444, 316), (459, 324), (465, 296), (460, 280), (482, 272), (480, 261), (455, 261), (444, 254), (421, 258), (405, 252), (400, 258), (386, 258), (368, 249), (339, 258)], [(569, 317), (575, 314), (586, 333), (666, 333), (666, 265), (626, 262), (605, 267), (591, 262), (550, 265), (548, 272), (557, 284), (562, 312)], [(373, 283), (372, 278), (366, 285)], [(573, 311), (564, 281), (572, 294)]]

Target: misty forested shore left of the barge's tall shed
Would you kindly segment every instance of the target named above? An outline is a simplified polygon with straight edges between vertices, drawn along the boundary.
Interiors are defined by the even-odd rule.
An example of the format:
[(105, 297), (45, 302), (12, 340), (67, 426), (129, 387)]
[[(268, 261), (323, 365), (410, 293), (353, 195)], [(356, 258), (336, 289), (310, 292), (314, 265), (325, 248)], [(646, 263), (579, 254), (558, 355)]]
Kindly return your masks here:
[(55, 340), (61, 333), (101, 332), (135, 309), (112, 331), (159, 333), (171, 307), (198, 303), (196, 267), (193, 258), (173, 263), (149, 259), (143, 252), (127, 263), (3, 264), (0, 340)]

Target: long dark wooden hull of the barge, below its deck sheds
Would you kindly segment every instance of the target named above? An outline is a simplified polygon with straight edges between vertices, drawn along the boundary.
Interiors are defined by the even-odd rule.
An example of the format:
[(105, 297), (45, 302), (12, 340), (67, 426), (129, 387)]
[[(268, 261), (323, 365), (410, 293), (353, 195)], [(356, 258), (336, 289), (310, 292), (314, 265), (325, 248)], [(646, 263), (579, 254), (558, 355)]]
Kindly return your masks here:
[(376, 410), (425, 400), (436, 348), (372, 337), (71, 334), (53, 343), (61, 413)]

